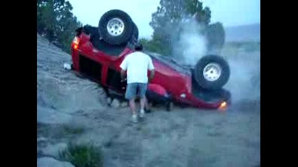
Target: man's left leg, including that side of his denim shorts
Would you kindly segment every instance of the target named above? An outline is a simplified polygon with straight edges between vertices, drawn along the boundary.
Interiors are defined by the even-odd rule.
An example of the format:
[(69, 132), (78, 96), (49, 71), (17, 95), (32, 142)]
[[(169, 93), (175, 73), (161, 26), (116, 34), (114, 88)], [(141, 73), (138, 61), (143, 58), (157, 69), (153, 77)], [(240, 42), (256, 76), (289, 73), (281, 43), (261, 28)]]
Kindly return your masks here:
[(135, 95), (137, 93), (137, 84), (127, 84), (125, 97), (129, 100), (129, 108), (133, 113), (133, 122), (137, 122), (137, 112), (135, 111)]

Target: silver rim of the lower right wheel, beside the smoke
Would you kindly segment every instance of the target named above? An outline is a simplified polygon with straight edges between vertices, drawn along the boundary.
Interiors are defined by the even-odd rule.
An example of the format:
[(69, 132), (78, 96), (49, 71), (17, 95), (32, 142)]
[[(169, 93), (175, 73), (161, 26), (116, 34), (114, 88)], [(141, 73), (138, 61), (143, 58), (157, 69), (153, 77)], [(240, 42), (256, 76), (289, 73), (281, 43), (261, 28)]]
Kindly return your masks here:
[(221, 65), (218, 65), (217, 63), (207, 64), (204, 67), (203, 76), (207, 81), (216, 81), (221, 77)]

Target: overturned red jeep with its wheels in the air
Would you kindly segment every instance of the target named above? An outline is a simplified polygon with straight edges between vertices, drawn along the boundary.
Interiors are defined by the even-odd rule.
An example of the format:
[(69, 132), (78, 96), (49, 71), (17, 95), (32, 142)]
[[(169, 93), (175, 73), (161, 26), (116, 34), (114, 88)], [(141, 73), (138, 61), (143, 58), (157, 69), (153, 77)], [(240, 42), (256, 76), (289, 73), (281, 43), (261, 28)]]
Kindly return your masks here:
[[(126, 83), (121, 82), (119, 65), (133, 52), (138, 29), (122, 10), (109, 10), (100, 17), (98, 27), (83, 26), (76, 30), (71, 44), (72, 69), (98, 82), (105, 90), (124, 96)], [(146, 48), (144, 48), (146, 49)], [(149, 102), (204, 109), (225, 109), (230, 92), (223, 86), (230, 77), (228, 63), (217, 55), (207, 55), (193, 67), (186, 67), (170, 56), (144, 51), (151, 56), (155, 77), (147, 90)]]

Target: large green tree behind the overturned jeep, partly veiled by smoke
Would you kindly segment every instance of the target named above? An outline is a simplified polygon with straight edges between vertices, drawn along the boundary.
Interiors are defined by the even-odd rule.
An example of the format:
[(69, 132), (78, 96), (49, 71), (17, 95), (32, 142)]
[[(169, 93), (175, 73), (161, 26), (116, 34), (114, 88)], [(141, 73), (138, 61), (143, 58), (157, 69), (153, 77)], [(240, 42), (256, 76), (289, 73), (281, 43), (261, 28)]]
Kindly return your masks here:
[(154, 29), (154, 33), (152, 39), (147, 42), (151, 51), (172, 55), (174, 42), (179, 40), (181, 32), (193, 21), (198, 23), (195, 31), (207, 35), (207, 39), (211, 40), (210, 48), (214, 43), (219, 46), (224, 41), (222, 25), (209, 24), (211, 10), (207, 6), (203, 7), (202, 2), (198, 0), (161, 0), (160, 6), (151, 17), (149, 25)]

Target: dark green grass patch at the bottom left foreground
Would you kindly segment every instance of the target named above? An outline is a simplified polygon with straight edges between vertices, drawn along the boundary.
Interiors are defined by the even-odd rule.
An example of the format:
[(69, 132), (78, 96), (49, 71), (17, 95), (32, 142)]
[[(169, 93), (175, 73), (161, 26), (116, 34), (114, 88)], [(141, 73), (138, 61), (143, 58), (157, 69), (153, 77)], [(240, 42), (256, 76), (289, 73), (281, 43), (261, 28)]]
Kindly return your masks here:
[(102, 167), (103, 154), (94, 145), (68, 143), (66, 150), (59, 152), (59, 159), (69, 161), (75, 167)]

